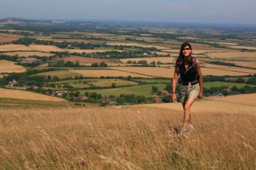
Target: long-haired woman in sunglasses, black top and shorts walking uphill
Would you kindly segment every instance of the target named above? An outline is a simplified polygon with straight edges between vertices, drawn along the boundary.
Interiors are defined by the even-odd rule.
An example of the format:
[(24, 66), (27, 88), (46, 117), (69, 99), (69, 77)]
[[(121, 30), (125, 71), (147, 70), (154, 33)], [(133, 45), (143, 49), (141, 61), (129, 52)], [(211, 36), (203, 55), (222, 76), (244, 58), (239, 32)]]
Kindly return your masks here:
[(173, 102), (177, 102), (176, 82), (178, 76), (180, 76), (179, 93), (184, 110), (183, 125), (178, 136), (182, 136), (186, 132), (193, 130), (190, 109), (197, 97), (203, 97), (203, 75), (200, 69), (199, 60), (192, 57), (191, 54), (191, 45), (188, 42), (184, 42), (181, 45), (181, 50), (178, 59), (176, 60), (176, 67), (173, 74)]

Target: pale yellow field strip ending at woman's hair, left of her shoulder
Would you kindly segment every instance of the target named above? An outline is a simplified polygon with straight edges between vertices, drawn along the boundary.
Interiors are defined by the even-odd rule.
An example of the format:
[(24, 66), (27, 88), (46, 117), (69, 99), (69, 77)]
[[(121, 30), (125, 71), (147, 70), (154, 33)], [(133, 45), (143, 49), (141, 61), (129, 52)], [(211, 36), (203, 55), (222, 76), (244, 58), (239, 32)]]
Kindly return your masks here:
[(152, 57), (152, 58), (124, 58), (120, 59), (122, 63), (127, 63), (127, 61), (147, 61), (151, 63), (152, 61), (161, 61), (162, 63), (172, 63), (176, 58), (173, 57)]

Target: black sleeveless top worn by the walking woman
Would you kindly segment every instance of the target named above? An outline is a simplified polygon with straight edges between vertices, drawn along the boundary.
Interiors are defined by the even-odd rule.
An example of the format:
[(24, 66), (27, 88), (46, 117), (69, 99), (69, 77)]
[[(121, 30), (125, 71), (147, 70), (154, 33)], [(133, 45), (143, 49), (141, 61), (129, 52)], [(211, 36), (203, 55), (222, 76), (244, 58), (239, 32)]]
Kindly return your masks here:
[(189, 66), (187, 70), (185, 68), (184, 63), (176, 63), (176, 72), (180, 74), (179, 83), (182, 85), (189, 85), (189, 82), (192, 85), (195, 85), (198, 82), (198, 72), (197, 72), (197, 64), (195, 62), (195, 58), (191, 57)]

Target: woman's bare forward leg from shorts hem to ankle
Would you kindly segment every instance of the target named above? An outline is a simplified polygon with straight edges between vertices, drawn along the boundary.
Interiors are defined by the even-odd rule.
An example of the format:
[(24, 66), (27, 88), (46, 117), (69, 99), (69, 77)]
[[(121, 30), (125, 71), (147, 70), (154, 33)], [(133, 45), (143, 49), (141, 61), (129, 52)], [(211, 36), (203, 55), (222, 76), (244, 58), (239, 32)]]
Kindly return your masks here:
[(187, 99), (187, 102), (183, 104), (183, 109), (184, 109), (183, 126), (182, 126), (183, 129), (186, 129), (187, 125), (191, 123), (190, 109), (194, 101), (195, 101), (195, 98), (189, 97)]

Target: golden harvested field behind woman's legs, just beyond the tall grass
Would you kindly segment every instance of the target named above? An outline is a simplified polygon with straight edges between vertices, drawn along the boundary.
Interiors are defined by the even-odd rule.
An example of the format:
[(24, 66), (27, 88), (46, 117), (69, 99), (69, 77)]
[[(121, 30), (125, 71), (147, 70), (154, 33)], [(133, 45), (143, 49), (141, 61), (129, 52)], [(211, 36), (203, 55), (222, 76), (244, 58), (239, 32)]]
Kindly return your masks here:
[[(239, 95), (240, 96), (240, 95)], [(227, 97), (233, 97), (233, 96), (227, 96)], [(255, 97), (255, 95), (254, 95)], [(224, 98), (226, 97), (220, 97)], [(239, 98), (239, 97), (238, 97)], [(234, 100), (235, 101), (235, 100)], [(195, 103), (192, 106), (192, 115), (195, 113), (203, 113), (208, 114), (209, 112), (225, 112), (232, 113), (232, 114), (241, 114), (241, 113), (252, 113), (256, 114), (256, 105), (249, 106), (247, 104), (252, 104), (252, 102), (246, 102), (244, 101), (243, 104), (236, 103), (233, 101), (214, 101), (209, 99), (201, 99), (199, 101), (195, 101)], [(165, 108), (165, 109), (173, 109), (177, 111), (183, 111), (181, 103), (162, 103), (162, 104), (139, 104), (135, 106), (129, 106), (129, 107), (157, 107), (157, 108)], [(196, 115), (195, 115), (196, 116)]]

